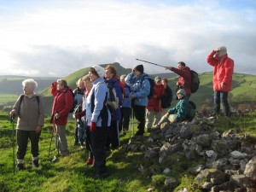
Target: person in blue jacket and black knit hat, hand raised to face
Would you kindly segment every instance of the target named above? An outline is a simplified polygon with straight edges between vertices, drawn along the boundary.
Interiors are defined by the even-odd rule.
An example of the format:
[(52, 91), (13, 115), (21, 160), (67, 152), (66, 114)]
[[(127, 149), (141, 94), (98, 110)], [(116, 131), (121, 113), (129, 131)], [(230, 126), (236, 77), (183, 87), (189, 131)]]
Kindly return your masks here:
[(148, 105), (148, 95), (150, 93), (150, 83), (148, 75), (144, 73), (143, 65), (138, 65), (125, 78), (126, 84), (131, 87), (131, 99), (133, 100), (133, 113), (137, 119), (136, 136), (142, 136), (145, 127), (146, 106)]

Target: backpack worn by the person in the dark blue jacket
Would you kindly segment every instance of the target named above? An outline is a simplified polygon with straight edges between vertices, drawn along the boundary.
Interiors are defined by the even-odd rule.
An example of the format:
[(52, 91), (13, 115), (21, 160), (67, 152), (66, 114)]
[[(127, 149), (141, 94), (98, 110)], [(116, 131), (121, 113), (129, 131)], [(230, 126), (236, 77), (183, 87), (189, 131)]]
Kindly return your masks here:
[(112, 83), (112, 86), (108, 84), (108, 101), (106, 102), (107, 107), (110, 113), (114, 113), (117, 108), (119, 108), (119, 97), (116, 95), (116, 91), (113, 88), (115, 82)]

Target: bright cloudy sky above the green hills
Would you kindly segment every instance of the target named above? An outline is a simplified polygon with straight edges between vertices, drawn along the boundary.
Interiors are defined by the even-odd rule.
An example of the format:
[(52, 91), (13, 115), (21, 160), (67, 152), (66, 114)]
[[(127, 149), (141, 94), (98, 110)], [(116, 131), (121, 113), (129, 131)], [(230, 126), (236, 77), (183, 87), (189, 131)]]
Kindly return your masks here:
[(113, 62), (168, 72), (136, 59), (203, 73), (218, 46), (236, 73), (256, 75), (255, 0), (0, 0), (0, 75), (64, 78)]

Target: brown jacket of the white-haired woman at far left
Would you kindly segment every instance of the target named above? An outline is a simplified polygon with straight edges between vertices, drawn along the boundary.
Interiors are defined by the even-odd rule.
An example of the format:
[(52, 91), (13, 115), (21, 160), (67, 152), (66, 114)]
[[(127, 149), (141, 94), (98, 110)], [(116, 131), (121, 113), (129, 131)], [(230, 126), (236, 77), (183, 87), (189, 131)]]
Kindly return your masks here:
[[(22, 95), (20, 95), (22, 96)], [(42, 96), (24, 95), (22, 102), (20, 96), (15, 102), (13, 109), (18, 116), (16, 129), (23, 131), (35, 131), (37, 125), (44, 126), (44, 103)], [(37, 97), (39, 98), (39, 102)]]

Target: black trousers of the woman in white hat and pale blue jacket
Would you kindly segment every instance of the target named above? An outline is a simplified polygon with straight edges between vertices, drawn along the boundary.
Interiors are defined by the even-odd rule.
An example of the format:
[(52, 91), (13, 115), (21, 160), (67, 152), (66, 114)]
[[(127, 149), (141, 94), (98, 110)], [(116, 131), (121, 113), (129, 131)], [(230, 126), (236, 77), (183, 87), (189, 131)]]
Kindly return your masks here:
[(96, 131), (90, 132), (90, 143), (95, 159), (96, 173), (107, 172), (106, 166), (106, 141), (108, 127), (96, 127)]

